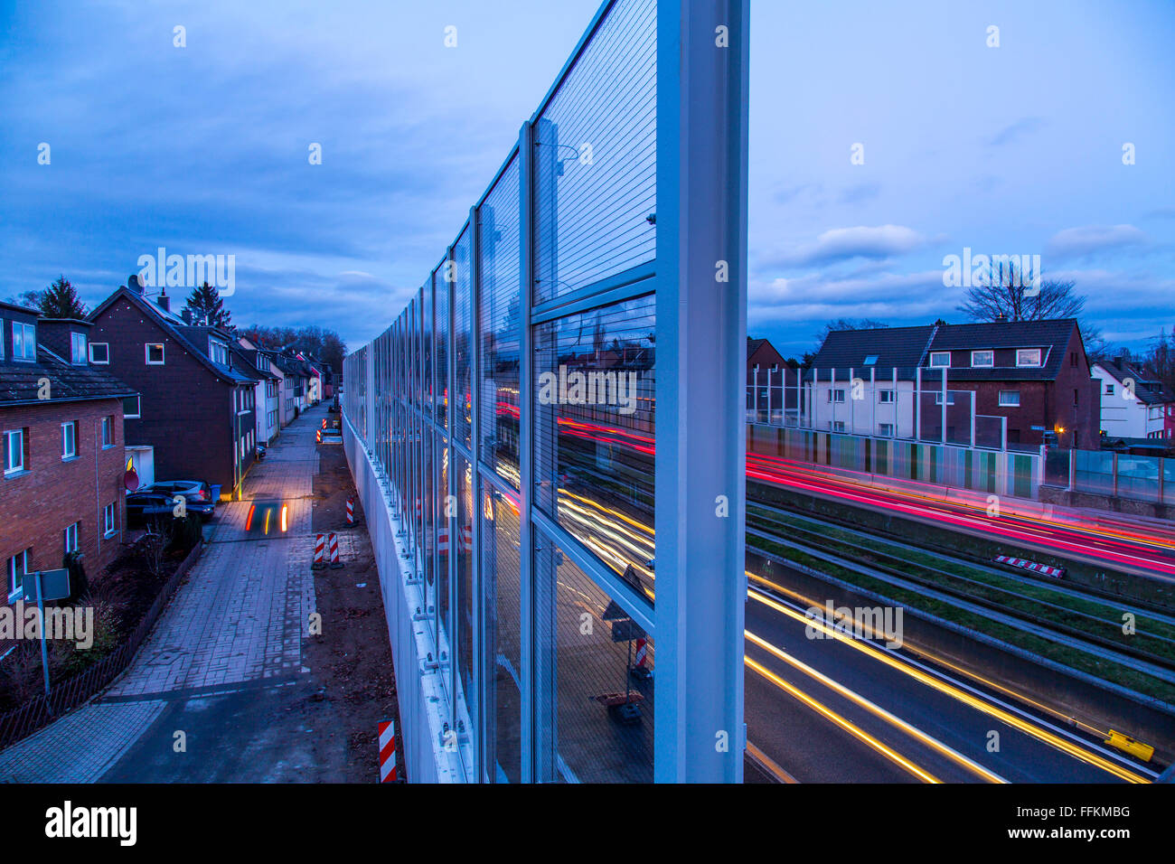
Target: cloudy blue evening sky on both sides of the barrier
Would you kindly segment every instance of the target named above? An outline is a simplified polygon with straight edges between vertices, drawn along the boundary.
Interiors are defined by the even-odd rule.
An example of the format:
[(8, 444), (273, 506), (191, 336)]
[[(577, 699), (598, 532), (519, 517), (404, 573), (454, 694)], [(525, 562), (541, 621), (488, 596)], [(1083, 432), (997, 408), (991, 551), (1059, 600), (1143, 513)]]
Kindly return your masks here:
[[(234, 255), (234, 322), (356, 348), (597, 6), (0, 0), (0, 299)], [(1175, 4), (752, 0), (751, 32), (748, 333), (799, 355), (831, 319), (964, 321), (965, 248), (1040, 255), (1110, 342), (1175, 326)]]

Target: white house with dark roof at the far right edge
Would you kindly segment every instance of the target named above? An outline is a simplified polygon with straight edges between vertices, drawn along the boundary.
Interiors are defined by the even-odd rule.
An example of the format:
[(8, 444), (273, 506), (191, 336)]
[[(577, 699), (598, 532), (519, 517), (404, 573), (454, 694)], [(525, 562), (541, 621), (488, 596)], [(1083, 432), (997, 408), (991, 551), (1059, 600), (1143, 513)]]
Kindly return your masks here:
[(1175, 393), (1124, 357), (1094, 363), (1101, 430), (1108, 438), (1171, 438)]

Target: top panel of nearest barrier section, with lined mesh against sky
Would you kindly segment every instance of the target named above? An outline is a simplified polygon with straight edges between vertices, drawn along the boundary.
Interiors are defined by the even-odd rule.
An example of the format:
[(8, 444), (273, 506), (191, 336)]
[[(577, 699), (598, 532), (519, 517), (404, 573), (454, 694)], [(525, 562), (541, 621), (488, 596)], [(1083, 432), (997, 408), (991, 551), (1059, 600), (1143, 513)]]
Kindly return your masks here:
[(620, 0), (612, 8), (543, 112), (535, 138), (535, 301), (652, 261), (654, 0)]

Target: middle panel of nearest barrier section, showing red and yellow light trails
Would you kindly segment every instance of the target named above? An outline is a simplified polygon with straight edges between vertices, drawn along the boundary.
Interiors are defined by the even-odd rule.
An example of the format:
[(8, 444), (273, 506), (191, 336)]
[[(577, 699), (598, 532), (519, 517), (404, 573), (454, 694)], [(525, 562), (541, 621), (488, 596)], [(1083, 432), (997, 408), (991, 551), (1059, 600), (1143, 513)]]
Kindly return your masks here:
[(653, 597), (652, 295), (535, 328), (536, 502)]

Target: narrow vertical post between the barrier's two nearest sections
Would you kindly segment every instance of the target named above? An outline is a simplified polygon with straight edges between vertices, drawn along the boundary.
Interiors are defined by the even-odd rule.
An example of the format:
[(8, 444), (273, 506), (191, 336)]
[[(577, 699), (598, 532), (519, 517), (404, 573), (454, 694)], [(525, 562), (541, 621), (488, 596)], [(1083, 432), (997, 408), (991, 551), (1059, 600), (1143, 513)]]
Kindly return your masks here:
[(530, 513), (535, 504), (535, 337), (530, 309), (535, 296), (535, 142), (530, 121), (518, 132), (518, 279), (521, 356), (518, 370), (518, 582), (519, 663), (522, 670), (522, 782), (535, 779), (535, 538)]

